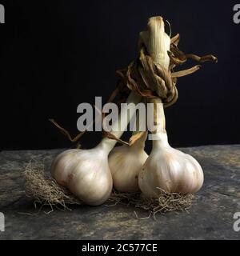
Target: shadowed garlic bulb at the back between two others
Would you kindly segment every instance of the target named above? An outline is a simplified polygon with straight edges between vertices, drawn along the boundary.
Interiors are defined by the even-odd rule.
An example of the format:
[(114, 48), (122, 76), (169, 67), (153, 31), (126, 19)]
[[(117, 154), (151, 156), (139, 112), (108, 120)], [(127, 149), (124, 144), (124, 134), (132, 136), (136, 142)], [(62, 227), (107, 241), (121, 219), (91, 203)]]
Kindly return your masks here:
[(144, 151), (147, 133), (142, 135), (132, 146), (117, 146), (109, 155), (110, 171), (114, 188), (120, 192), (136, 192), (138, 174), (148, 155)]

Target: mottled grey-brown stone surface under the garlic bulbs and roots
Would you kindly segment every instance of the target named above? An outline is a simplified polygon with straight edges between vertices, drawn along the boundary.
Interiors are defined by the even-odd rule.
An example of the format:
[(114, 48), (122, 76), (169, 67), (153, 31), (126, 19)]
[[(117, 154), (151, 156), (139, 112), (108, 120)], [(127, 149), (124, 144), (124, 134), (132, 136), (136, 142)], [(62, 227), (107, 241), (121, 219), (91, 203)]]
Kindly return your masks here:
[[(187, 212), (154, 218), (133, 206), (73, 206), (71, 211), (44, 208), (40, 213), (24, 194), (24, 165), (52, 158), (62, 150), (2, 151), (0, 153), (0, 212), (5, 232), (0, 239), (239, 239), (233, 229), (240, 212), (240, 146), (199, 146), (182, 151), (202, 165), (205, 182)], [(30, 214), (34, 213), (34, 214)]]

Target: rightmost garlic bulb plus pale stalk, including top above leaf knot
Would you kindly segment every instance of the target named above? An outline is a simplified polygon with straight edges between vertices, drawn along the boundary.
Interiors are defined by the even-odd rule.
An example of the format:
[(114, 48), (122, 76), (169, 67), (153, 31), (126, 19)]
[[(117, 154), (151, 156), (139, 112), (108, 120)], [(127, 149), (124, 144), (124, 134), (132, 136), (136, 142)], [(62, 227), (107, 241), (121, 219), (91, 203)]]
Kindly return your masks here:
[[(149, 30), (142, 34), (148, 52), (156, 64), (169, 69), (170, 38), (164, 32), (162, 18), (150, 18)], [(158, 93), (158, 95), (161, 92)], [(153, 149), (138, 176), (138, 185), (146, 197), (158, 197), (159, 190), (167, 192), (194, 193), (203, 183), (202, 168), (189, 154), (174, 150), (168, 143), (162, 100), (150, 99), (154, 103)], [(159, 115), (159, 116), (158, 116)], [(154, 127), (152, 127), (154, 130)]]

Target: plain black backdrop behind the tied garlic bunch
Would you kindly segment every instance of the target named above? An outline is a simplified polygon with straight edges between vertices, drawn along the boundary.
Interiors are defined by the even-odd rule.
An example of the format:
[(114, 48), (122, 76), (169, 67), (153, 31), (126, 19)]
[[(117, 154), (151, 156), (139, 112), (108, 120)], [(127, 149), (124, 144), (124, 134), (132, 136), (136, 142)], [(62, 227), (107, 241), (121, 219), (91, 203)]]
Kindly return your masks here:
[[(48, 121), (77, 134), (77, 106), (108, 98), (115, 70), (137, 56), (139, 31), (162, 15), (186, 53), (214, 54), (218, 64), (178, 79), (178, 102), (166, 109), (172, 146), (239, 143), (238, 1), (0, 1), (2, 150), (71, 146)], [(188, 68), (195, 65), (188, 62)], [(101, 134), (81, 142), (94, 146)]]

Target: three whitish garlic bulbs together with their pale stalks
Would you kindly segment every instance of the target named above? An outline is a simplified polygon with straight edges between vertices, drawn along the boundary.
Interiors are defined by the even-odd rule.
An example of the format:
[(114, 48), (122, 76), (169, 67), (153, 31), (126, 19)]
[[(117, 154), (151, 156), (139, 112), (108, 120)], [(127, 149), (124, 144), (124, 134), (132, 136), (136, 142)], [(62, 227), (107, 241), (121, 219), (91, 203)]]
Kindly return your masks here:
[[(170, 42), (162, 17), (150, 18), (148, 30), (140, 33), (139, 37), (139, 44), (146, 46), (155, 66), (161, 66), (165, 74), (170, 73)], [(163, 79), (161, 81), (165, 83)], [(168, 143), (161, 100), (164, 97), (161, 96), (161, 86), (156, 84), (151, 90), (160, 98), (148, 99), (154, 104), (154, 126), (150, 129), (153, 148), (150, 156), (144, 151), (147, 132), (132, 146), (114, 148), (116, 140), (103, 138), (94, 149), (66, 150), (54, 159), (51, 174), (58, 184), (67, 187), (76, 197), (92, 206), (105, 202), (113, 186), (121, 192), (141, 190), (149, 198), (158, 197), (158, 188), (184, 194), (194, 193), (201, 188), (201, 166), (189, 154), (174, 150)], [(130, 104), (130, 109), (121, 111), (118, 122), (112, 127), (111, 133), (115, 138), (120, 138), (124, 130), (119, 130), (118, 123), (121, 122), (122, 127), (126, 128), (141, 99), (142, 96), (134, 91), (130, 93), (126, 103), (134, 104)]]

